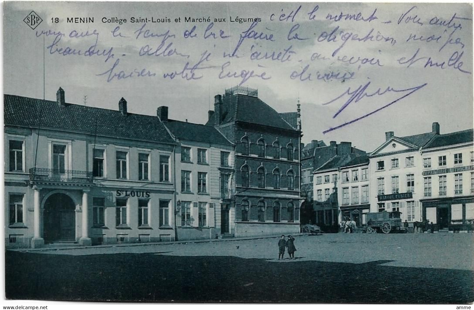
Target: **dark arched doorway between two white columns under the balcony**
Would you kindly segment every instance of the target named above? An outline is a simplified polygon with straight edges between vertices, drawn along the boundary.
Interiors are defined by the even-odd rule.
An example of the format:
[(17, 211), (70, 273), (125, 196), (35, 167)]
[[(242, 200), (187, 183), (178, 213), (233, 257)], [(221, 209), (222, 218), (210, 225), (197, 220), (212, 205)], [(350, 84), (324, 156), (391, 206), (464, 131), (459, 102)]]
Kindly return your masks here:
[(45, 243), (54, 241), (74, 241), (76, 239), (76, 206), (66, 194), (49, 196), (44, 205)]

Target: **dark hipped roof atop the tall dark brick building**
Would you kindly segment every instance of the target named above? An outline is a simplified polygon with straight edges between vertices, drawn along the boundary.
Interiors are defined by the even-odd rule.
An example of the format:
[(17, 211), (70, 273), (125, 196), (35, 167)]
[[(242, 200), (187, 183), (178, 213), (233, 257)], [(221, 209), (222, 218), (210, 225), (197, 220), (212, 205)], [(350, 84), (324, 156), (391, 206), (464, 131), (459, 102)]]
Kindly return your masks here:
[[(276, 128), (290, 129), (290, 124), (282, 119), (280, 114), (257, 97), (234, 94), (224, 98), (221, 104), (222, 121), (220, 124), (243, 121), (247, 123), (272, 126)], [(219, 124), (219, 116), (214, 113), (207, 125), (216, 126)]]

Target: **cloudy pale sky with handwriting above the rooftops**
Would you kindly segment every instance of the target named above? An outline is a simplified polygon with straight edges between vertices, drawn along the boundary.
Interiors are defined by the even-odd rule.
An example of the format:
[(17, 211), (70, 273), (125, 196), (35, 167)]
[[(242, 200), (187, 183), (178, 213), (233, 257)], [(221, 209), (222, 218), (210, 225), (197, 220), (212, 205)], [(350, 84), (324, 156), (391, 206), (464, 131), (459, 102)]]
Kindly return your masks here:
[(241, 85), (278, 112), (300, 102), (302, 142), (368, 152), (386, 131), (473, 128), (469, 4), (6, 2), (3, 26), (7, 94), (55, 100), (61, 86), (69, 103), (124, 97), (131, 113), (205, 123), (214, 95)]

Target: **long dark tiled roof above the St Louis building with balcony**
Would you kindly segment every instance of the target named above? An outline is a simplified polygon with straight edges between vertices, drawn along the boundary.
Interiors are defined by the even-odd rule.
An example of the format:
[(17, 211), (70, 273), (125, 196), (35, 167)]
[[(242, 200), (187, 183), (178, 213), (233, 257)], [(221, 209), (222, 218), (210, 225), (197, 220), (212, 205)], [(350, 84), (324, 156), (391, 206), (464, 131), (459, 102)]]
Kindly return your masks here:
[[(175, 143), (163, 123), (156, 116), (100, 109), (55, 101), (4, 95), (5, 125), (37, 128), (56, 128), (86, 134)], [(41, 124), (39, 119), (41, 115)]]

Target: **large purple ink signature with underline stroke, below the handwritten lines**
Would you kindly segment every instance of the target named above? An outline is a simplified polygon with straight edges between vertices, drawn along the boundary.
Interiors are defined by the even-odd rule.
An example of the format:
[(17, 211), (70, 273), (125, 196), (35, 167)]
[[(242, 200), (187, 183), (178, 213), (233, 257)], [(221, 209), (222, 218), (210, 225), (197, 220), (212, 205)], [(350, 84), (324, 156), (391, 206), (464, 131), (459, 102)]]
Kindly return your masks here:
[(367, 91), (367, 88), (369, 87), (369, 85), (371, 84), (371, 82), (367, 82), (365, 85), (360, 85), (359, 87), (357, 87), (356, 89), (352, 90), (350, 87), (347, 88), (346, 91), (344, 91), (341, 95), (337, 96), (336, 98), (334, 98), (333, 100), (330, 100), (326, 103), (323, 103), (323, 105), (327, 105), (327, 104), (330, 104), (334, 101), (337, 101), (338, 99), (341, 99), (341, 98), (344, 98), (346, 96), (349, 96), (349, 99), (342, 105), (342, 107), (340, 109), (337, 110), (336, 114), (334, 114), (334, 116), (332, 117), (333, 119), (335, 119), (344, 109), (347, 108), (347, 106), (349, 104), (351, 104), (352, 102), (359, 102), (360, 100), (363, 100), (364, 98), (366, 97), (374, 97), (374, 96), (383, 96), (385, 95), (386, 93), (388, 92), (399, 92), (402, 94), (401, 97), (399, 97), (398, 99), (396, 100), (393, 100), (392, 102), (390, 103), (387, 103), (385, 104), (383, 107), (381, 108), (378, 108), (378, 109), (375, 109), (374, 111), (370, 112), (370, 113), (367, 113), (359, 118), (356, 118), (356, 119), (353, 119), (351, 121), (348, 121), (344, 124), (341, 124), (339, 126), (336, 126), (336, 127), (331, 127), (325, 131), (323, 131), (323, 134), (326, 134), (330, 131), (333, 131), (333, 130), (336, 130), (338, 128), (342, 128), (344, 126), (347, 126), (349, 124), (352, 124), (352, 123), (355, 123), (356, 121), (359, 121), (361, 119), (364, 119), (368, 116), (371, 116), (372, 114), (375, 114), (377, 113), (378, 111), (382, 110), (382, 109), (385, 109), (389, 106), (391, 106), (392, 104), (394, 104), (395, 102), (398, 102), (408, 96), (410, 96), (412, 93), (416, 92), (416, 91), (419, 91), (420, 89), (422, 89), (423, 87), (425, 87), (426, 85), (428, 85), (428, 83), (423, 83), (419, 86), (414, 86), (414, 87), (410, 87), (410, 88), (406, 88), (406, 89), (395, 89), (391, 86), (387, 86), (384, 90), (382, 90), (382, 88), (379, 88), (377, 89), (376, 91), (374, 92), (369, 92)]

